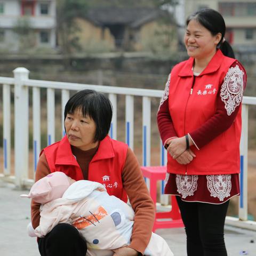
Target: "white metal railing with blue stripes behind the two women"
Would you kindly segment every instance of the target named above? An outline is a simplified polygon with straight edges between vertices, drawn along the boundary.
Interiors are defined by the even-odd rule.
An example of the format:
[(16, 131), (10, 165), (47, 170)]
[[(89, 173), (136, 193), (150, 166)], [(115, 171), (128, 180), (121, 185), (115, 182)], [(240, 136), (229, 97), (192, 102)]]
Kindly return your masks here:
[[(4, 168), (2, 177), (10, 177), (11, 155), (11, 89), (14, 86), (14, 172), (13, 182), (17, 187), (31, 185), (33, 180), (28, 179), (28, 121), (29, 121), (29, 88), (32, 88), (33, 97), (33, 152), (34, 169), (41, 151), (41, 102), (40, 89), (47, 90), (47, 143), (55, 141), (55, 90), (61, 90), (61, 121), (62, 135), (63, 113), (70, 91), (93, 89), (108, 93), (113, 105), (113, 119), (110, 127), (111, 138), (117, 138), (117, 95), (125, 95), (125, 134), (126, 143), (134, 148), (134, 97), (142, 97), (142, 165), (150, 165), (150, 138), (151, 138), (151, 98), (161, 98), (162, 90), (135, 89), (126, 87), (102, 86), (91, 84), (63, 83), (52, 81), (38, 81), (29, 79), (29, 70), (17, 68), (13, 71), (14, 78), (0, 77), (3, 85), (3, 158)], [(239, 200), (239, 220), (247, 220), (247, 141), (248, 141), (248, 109), (249, 105), (256, 105), (256, 97), (244, 97), (242, 106), (242, 138), (241, 138), (241, 196)], [(160, 142), (159, 165), (166, 164), (166, 154)], [(148, 182), (147, 182), (148, 183)], [(161, 194), (163, 189), (160, 187)], [(161, 202), (167, 203), (167, 197), (161, 195)], [(228, 222), (237, 222), (238, 219), (229, 218)], [(244, 222), (245, 223), (245, 222)], [(253, 223), (253, 224), (252, 224)], [(256, 230), (256, 222), (250, 222)], [(240, 224), (239, 224), (240, 225)]]

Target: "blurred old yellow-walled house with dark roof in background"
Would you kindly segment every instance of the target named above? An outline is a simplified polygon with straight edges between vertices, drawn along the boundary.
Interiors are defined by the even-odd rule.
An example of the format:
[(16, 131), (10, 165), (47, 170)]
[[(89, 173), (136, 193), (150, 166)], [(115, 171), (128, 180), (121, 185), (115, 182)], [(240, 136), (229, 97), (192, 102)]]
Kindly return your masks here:
[(79, 44), (87, 51), (177, 51), (177, 25), (170, 13), (156, 8), (92, 8), (76, 22)]

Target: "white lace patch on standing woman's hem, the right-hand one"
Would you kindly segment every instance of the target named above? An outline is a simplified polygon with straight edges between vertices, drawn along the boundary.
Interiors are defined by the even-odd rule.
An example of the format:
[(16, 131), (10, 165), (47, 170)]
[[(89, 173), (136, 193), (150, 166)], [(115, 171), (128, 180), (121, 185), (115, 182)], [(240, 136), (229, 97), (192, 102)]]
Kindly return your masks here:
[(220, 201), (230, 196), (231, 174), (206, 175), (206, 178), (207, 188), (211, 196), (218, 197)]

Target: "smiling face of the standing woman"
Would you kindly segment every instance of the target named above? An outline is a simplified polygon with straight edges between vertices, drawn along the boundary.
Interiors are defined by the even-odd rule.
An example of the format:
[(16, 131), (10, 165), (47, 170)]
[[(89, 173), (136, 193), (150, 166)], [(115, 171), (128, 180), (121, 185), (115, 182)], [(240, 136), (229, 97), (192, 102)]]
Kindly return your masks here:
[(213, 56), (220, 39), (220, 33), (213, 36), (198, 21), (190, 20), (184, 36), (184, 43), (188, 55), (199, 60)]

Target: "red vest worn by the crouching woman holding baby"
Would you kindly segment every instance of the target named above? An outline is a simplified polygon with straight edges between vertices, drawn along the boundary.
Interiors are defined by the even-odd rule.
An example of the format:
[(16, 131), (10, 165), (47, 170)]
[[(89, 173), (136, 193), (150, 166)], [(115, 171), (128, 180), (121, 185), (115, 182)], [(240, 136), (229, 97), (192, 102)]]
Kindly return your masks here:
[[(128, 146), (107, 136), (100, 141), (97, 153), (93, 156), (88, 170), (88, 180), (97, 181), (106, 187), (109, 195), (127, 202), (123, 189), (122, 170)], [(51, 172), (63, 172), (74, 180), (83, 180), (83, 173), (72, 154), (67, 136), (61, 141), (42, 150)]]

